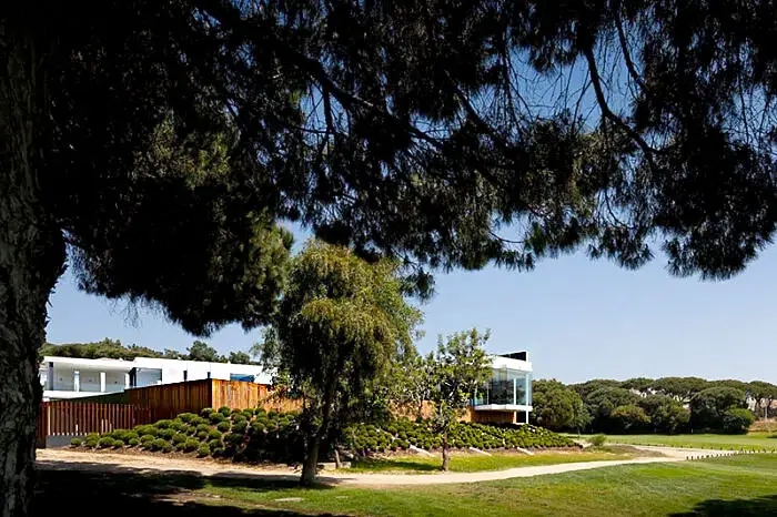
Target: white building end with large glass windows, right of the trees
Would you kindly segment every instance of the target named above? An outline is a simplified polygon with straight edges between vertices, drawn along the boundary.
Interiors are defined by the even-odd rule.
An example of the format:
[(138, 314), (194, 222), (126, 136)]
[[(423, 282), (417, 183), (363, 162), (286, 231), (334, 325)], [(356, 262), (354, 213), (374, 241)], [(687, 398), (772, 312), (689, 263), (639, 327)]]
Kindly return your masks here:
[(492, 377), (475, 392), (472, 409), (481, 422), (528, 424), (532, 363), (527, 352), (493, 355)]

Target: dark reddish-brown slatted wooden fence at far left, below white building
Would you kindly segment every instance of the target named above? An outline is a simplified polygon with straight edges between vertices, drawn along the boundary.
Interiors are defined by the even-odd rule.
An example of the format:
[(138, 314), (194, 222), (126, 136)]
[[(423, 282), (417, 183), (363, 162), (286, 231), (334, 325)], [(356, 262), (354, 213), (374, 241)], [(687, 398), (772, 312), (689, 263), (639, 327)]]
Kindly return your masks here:
[(93, 402), (57, 401), (41, 403), (38, 414), (37, 443), (46, 446), (49, 436), (82, 436), (129, 429), (138, 424), (150, 424), (148, 407), (131, 404), (101, 404)]

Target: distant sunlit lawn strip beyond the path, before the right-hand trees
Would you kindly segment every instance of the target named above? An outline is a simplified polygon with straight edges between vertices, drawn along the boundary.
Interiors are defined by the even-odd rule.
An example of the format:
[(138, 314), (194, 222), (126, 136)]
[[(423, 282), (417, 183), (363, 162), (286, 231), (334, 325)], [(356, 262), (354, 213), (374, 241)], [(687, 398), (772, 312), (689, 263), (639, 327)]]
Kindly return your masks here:
[[(569, 436), (577, 437), (577, 435)], [(583, 435), (583, 438), (585, 437), (586, 435)], [(777, 452), (777, 433), (750, 433), (747, 435), (607, 435), (607, 443)]]

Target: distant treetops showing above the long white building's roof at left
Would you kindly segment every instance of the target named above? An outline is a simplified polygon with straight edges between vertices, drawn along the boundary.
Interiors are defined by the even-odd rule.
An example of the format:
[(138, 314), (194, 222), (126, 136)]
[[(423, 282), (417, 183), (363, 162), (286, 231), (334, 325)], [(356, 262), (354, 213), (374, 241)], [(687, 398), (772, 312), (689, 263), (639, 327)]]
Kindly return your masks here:
[(135, 357), (152, 357), (160, 359), (206, 361), (209, 363), (256, 364), (245, 352), (230, 352), (229, 355), (220, 355), (219, 352), (202, 341), (195, 341), (185, 353), (165, 348), (159, 352), (147, 346), (123, 345), (119, 339), (105, 337), (93, 343), (65, 343), (61, 345), (47, 343), (40, 349), (40, 355), (59, 357), (78, 357), (83, 359), (111, 359), (132, 361)]

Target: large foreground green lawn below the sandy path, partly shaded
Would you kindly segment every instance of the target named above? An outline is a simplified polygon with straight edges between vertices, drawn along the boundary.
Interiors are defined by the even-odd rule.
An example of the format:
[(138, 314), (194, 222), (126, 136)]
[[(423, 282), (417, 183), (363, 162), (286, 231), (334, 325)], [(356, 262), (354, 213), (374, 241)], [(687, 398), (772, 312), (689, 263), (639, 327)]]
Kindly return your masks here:
[(38, 515), (702, 516), (777, 515), (777, 455), (608, 467), (392, 489), (182, 475), (41, 473)]

